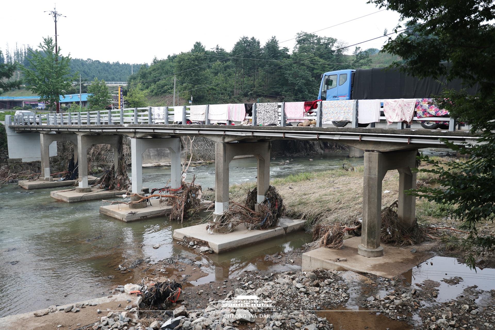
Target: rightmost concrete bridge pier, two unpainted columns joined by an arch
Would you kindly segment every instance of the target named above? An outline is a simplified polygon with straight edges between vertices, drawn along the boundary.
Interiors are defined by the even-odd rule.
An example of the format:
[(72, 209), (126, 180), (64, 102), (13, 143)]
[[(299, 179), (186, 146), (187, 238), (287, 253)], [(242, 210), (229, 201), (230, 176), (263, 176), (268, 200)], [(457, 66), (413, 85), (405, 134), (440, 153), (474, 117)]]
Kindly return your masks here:
[(364, 188), (363, 188), (363, 224), (361, 244), (357, 253), (365, 257), (383, 255), (380, 245), (382, 181), (389, 170), (399, 172), (398, 218), (406, 227), (414, 226), (416, 199), (404, 193), (404, 190), (416, 187), (416, 155), (418, 150), (406, 151), (365, 151), (364, 152)]

